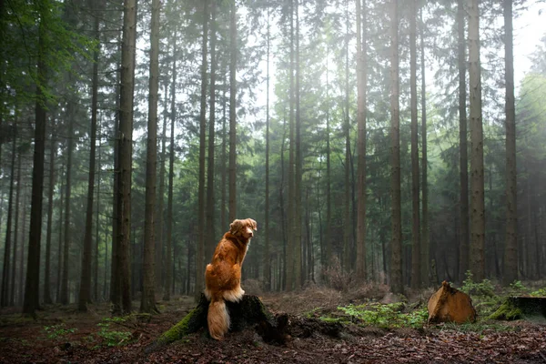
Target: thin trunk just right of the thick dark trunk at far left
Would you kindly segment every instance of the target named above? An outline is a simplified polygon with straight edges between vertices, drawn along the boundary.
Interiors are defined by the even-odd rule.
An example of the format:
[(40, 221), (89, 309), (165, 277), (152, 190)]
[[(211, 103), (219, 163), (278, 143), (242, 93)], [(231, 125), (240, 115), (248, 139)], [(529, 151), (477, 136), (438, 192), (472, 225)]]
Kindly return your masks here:
[(45, 273), (44, 303), (53, 303), (51, 299), (51, 234), (53, 230), (53, 192), (55, 190), (56, 130), (55, 120), (51, 120), (51, 147), (49, 151), (49, 187), (47, 189), (47, 232), (45, 235)]

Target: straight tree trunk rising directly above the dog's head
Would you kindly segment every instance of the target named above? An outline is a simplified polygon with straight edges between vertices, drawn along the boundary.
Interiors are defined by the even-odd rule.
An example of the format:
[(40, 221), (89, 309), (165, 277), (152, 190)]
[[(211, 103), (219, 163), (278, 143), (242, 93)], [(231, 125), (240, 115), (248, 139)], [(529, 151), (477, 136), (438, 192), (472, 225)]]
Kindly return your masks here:
[(230, 3), (229, 16), (229, 221), (237, 218), (237, 5)]

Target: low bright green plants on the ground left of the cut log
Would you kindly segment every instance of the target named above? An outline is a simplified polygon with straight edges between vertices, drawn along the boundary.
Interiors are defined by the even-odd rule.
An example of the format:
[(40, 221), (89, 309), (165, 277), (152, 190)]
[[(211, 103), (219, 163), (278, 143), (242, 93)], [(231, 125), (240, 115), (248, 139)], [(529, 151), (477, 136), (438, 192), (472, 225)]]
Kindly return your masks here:
[(362, 325), (373, 325), (384, 329), (393, 328), (422, 328), (428, 318), (427, 308), (419, 308), (411, 312), (401, 312), (403, 303), (391, 303), (383, 305), (379, 303), (371, 305), (339, 307), (351, 318), (357, 319)]

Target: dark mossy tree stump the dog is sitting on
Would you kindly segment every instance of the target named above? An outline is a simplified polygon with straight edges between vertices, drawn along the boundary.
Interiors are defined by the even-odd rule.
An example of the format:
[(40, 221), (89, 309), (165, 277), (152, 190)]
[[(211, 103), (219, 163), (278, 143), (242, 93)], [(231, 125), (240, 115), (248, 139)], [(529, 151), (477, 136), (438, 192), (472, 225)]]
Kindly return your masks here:
[[(159, 339), (146, 349), (147, 352), (156, 351), (185, 336), (207, 328), (207, 314), (209, 301), (201, 294), (197, 307), (192, 309), (184, 319), (164, 332)], [(255, 326), (258, 334), (267, 342), (284, 343), (288, 339), (286, 328), (288, 315), (274, 315), (264, 306), (257, 296), (243, 296), (239, 302), (226, 302), (231, 326), (229, 332), (237, 332)]]

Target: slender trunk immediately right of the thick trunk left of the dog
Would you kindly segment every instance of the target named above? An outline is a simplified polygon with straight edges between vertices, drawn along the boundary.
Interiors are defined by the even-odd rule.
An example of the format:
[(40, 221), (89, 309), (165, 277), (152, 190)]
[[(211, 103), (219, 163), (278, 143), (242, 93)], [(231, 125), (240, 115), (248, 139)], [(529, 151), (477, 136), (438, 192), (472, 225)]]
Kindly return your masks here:
[[(171, 130), (170, 130), (170, 144), (168, 150), (168, 191), (167, 191), (167, 255), (165, 257), (165, 291), (164, 300), (170, 299), (171, 281), (173, 280), (173, 180), (175, 175), (175, 121), (176, 121), (176, 90), (177, 90), (177, 32), (172, 38), (173, 41), (173, 80), (171, 82)], [(187, 267), (189, 268), (189, 257), (187, 258)], [(189, 278), (188, 278), (189, 279)]]

